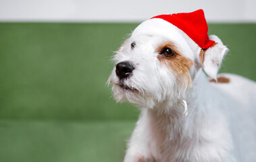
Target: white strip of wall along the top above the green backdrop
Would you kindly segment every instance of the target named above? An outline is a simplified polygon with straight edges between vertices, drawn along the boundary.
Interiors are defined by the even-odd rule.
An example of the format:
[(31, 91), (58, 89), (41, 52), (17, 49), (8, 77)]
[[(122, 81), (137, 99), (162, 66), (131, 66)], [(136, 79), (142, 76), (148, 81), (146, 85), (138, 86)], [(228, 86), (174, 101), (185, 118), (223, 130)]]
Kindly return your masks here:
[(208, 22), (256, 22), (256, 0), (0, 0), (1, 22), (141, 22), (204, 9)]

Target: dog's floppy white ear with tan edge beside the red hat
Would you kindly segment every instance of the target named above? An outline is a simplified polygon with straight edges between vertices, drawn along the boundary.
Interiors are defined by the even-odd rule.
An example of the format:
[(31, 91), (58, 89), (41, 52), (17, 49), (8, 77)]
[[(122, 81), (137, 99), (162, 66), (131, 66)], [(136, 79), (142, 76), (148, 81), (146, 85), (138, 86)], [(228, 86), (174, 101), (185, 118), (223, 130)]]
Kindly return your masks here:
[(215, 43), (209, 49), (201, 50), (200, 60), (205, 72), (216, 80), (217, 72), (220, 69), (224, 55), (228, 52), (228, 48), (215, 35), (209, 36), (209, 39), (215, 41)]

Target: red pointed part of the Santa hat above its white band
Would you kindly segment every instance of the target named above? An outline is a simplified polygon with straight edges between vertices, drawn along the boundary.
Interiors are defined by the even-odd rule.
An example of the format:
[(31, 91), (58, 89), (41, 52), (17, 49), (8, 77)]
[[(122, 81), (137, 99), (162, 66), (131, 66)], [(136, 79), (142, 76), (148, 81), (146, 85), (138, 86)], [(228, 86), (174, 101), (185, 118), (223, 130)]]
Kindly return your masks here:
[(207, 34), (208, 27), (203, 9), (190, 13), (159, 15), (151, 19), (154, 18), (160, 18), (170, 22), (186, 33), (202, 49), (208, 49), (214, 43), (214, 41), (209, 40)]

